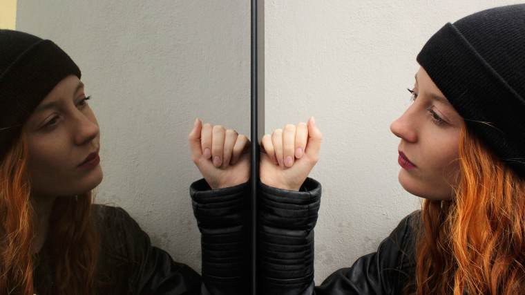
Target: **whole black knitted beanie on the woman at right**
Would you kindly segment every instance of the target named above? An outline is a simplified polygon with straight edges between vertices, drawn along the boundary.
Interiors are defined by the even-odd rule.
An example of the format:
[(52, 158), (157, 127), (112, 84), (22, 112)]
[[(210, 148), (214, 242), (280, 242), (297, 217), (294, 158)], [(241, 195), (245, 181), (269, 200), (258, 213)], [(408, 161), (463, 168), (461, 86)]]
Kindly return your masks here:
[(468, 130), (525, 177), (525, 4), (447, 23), (417, 61)]

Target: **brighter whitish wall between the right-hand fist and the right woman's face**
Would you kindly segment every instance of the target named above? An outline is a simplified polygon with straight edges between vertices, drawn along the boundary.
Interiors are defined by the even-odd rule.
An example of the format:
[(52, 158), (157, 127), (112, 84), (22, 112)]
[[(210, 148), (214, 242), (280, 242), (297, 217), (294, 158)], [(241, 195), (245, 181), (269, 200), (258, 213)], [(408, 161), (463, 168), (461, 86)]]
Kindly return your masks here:
[(397, 181), (390, 122), (408, 107), (416, 55), (447, 21), (520, 1), (265, 0), (266, 131), (323, 132), (316, 283), (376, 249), (420, 207)]

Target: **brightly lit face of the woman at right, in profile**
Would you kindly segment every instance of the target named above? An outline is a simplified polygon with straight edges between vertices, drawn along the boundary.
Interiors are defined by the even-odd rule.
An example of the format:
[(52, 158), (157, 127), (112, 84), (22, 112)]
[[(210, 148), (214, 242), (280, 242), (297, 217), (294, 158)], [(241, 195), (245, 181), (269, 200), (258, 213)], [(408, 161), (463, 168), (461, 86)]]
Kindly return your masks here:
[(450, 200), (452, 186), (458, 181), (459, 135), (464, 120), (422, 67), (412, 91), (414, 102), (390, 125), (390, 131), (401, 138), (399, 152), (414, 164), (400, 160), (399, 182), (421, 198)]

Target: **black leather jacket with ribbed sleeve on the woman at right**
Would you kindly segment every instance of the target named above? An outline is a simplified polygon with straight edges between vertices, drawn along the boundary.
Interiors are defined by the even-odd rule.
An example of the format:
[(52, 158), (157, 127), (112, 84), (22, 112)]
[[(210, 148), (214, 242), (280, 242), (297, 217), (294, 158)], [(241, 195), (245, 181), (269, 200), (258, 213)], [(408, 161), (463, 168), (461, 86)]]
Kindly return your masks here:
[(379, 245), (314, 286), (314, 226), (321, 184), (307, 178), (300, 191), (259, 182), (259, 294), (403, 294), (414, 278), (414, 234), (419, 211), (406, 216)]

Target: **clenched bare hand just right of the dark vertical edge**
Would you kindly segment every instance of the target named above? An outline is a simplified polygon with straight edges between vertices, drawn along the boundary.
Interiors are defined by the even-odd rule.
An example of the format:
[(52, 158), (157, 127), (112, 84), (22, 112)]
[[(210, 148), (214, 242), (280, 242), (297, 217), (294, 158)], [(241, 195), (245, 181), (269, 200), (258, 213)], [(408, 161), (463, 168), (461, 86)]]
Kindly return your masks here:
[(260, 149), (261, 182), (298, 191), (319, 159), (322, 137), (313, 117), (307, 124), (287, 124), (284, 131), (265, 134)]

